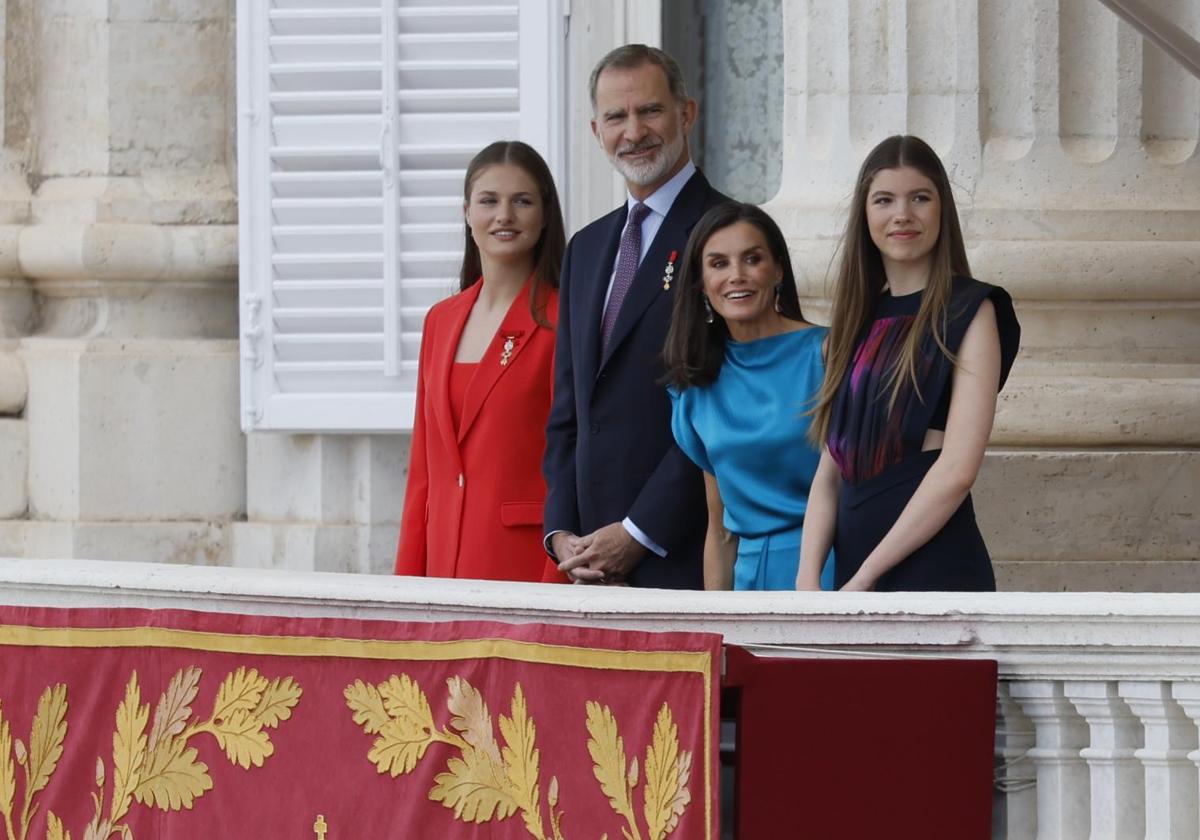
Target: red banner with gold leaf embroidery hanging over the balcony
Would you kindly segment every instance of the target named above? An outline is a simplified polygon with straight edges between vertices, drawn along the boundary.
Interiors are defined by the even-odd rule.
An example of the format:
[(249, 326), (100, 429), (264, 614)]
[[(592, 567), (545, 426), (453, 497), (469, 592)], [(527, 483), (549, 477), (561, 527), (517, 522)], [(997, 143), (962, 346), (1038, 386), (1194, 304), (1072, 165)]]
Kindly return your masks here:
[(720, 637), (0, 607), (0, 840), (715, 840)]

